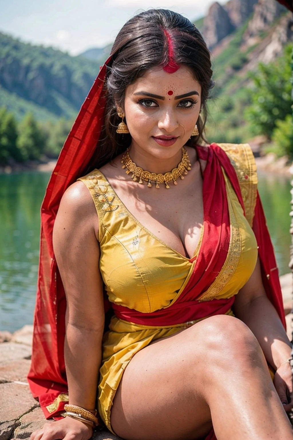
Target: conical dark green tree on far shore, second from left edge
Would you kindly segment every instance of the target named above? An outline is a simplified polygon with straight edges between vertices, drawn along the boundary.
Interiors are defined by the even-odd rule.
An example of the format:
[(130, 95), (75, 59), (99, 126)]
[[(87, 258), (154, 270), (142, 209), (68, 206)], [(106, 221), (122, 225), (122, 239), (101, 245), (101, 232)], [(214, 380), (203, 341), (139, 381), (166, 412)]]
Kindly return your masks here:
[(28, 113), (19, 124), (17, 147), (23, 160), (39, 159), (46, 147), (46, 136), (32, 113)]

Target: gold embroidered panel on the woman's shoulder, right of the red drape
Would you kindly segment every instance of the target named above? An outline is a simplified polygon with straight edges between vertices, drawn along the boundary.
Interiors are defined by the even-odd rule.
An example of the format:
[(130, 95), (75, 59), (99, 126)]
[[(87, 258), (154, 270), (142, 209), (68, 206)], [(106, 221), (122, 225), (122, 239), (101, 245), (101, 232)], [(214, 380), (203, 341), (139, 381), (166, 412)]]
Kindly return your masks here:
[(254, 209), (257, 201), (257, 165), (253, 157), (253, 152), (248, 143), (219, 143), (217, 145), (228, 155), (236, 171), (246, 219), (250, 227), (252, 227)]

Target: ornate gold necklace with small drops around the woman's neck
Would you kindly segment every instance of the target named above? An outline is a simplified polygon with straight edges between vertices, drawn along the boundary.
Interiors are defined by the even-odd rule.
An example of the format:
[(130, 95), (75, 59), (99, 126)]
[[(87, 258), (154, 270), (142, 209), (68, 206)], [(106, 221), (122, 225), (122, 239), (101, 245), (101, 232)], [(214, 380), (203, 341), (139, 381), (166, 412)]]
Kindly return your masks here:
[(159, 183), (165, 183), (166, 188), (170, 188), (168, 185), (169, 182), (173, 181), (174, 185), (177, 185), (176, 180), (178, 177), (183, 180), (184, 175), (191, 170), (191, 163), (189, 161), (188, 153), (184, 147), (182, 147), (181, 162), (176, 168), (173, 168), (170, 172), (165, 172), (165, 174), (156, 174), (156, 172), (145, 171), (141, 167), (137, 166), (134, 161), (131, 160), (128, 148), (122, 157), (121, 163), (123, 169), (127, 168), (126, 174), (130, 174), (130, 172), (132, 172), (131, 179), (134, 180), (134, 182), (136, 182), (137, 178), (139, 178), (138, 183), (148, 182), (149, 188), (152, 187), (151, 182), (156, 182), (156, 188), (159, 188)]

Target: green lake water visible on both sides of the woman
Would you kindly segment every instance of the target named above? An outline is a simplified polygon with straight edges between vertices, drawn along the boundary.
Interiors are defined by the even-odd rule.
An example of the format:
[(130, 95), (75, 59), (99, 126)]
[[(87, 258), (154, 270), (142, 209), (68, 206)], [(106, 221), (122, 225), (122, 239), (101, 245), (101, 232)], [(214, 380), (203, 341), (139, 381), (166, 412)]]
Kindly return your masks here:
[[(40, 205), (48, 173), (0, 175), (0, 330), (33, 323), (38, 273)], [(259, 175), (259, 190), (280, 274), (289, 261), (290, 183)]]

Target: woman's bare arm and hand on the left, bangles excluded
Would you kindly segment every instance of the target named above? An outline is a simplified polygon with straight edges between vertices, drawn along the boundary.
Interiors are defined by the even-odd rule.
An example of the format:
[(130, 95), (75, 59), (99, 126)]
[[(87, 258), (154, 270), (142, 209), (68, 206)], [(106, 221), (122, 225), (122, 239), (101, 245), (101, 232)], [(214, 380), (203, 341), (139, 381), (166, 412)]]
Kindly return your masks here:
[[(99, 271), (98, 216), (88, 189), (74, 183), (65, 192), (54, 224), (53, 247), (65, 287), (65, 365), (69, 403), (96, 407), (104, 305)], [(47, 423), (31, 440), (87, 440), (92, 428), (66, 417)]]

